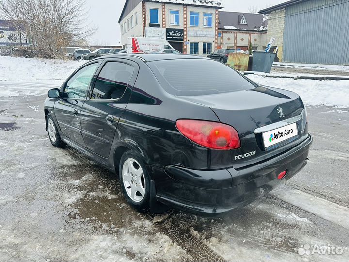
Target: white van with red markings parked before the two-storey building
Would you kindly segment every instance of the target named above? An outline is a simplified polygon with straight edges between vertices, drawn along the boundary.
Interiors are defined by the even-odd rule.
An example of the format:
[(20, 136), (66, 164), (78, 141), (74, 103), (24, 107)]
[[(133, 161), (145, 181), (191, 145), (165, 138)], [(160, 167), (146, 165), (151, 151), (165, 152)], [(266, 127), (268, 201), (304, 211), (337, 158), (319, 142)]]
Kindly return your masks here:
[(163, 39), (146, 37), (128, 37), (127, 53), (151, 53), (159, 49), (174, 49), (169, 42)]

